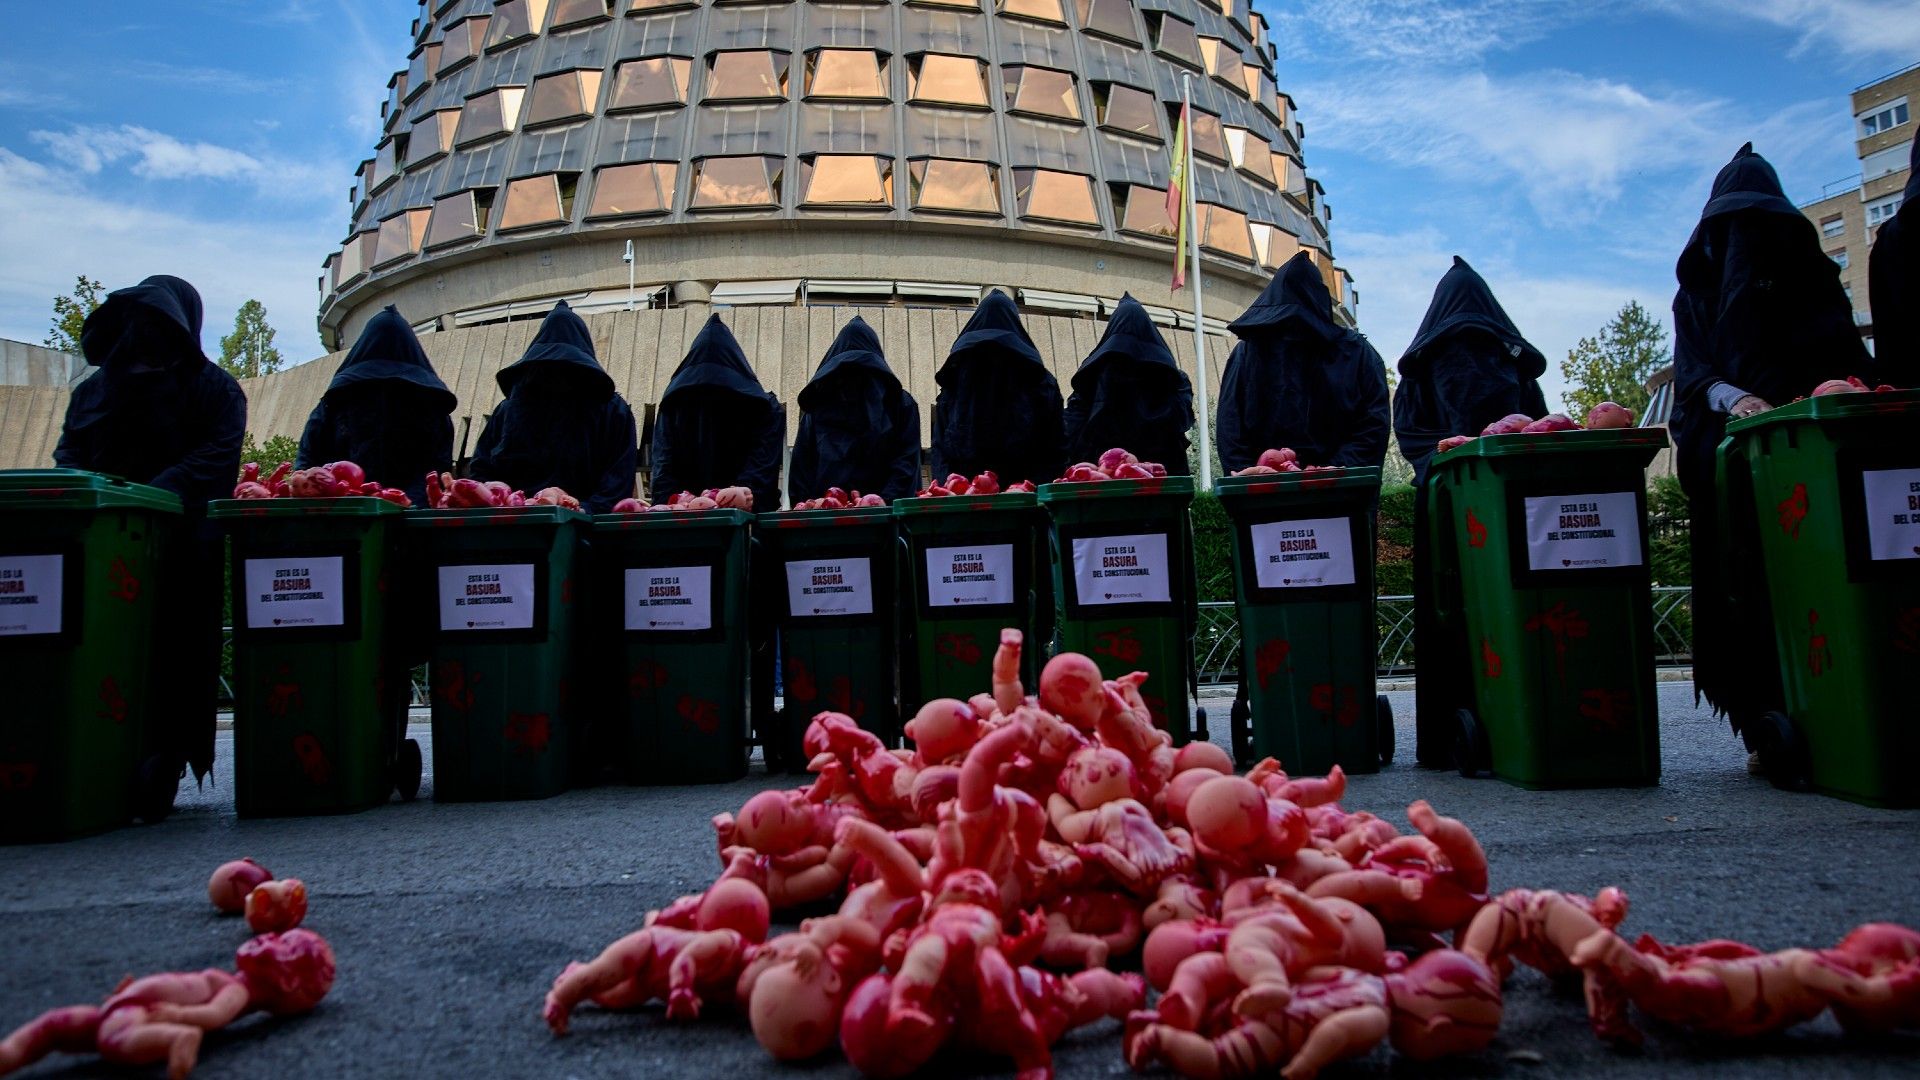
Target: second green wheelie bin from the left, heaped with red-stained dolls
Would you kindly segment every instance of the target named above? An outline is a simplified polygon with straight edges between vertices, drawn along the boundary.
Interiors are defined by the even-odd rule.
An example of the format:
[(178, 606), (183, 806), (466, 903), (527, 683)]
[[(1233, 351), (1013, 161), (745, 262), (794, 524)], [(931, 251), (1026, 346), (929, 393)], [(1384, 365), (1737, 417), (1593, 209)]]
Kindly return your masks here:
[(232, 540), (234, 811), (346, 813), (420, 792), (397, 657), (397, 505), (219, 500)]

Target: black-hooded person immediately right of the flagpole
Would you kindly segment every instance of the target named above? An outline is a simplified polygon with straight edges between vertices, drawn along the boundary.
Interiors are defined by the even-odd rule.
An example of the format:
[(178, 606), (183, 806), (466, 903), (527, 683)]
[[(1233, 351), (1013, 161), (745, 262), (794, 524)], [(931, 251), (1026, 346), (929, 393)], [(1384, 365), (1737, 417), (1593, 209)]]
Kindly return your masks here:
[(1246, 469), (1281, 446), (1302, 465), (1386, 461), (1386, 363), (1365, 336), (1332, 321), (1332, 294), (1306, 252), (1229, 329), (1240, 344), (1219, 384), (1221, 469)]

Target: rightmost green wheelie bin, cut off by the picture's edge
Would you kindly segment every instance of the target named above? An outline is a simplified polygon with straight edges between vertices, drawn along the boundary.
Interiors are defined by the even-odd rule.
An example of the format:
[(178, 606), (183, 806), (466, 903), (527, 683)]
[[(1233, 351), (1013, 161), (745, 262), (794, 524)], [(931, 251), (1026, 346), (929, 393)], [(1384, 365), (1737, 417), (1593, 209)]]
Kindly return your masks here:
[[(1920, 805), (1920, 390), (1830, 394), (1734, 421), (1720, 444), (1730, 544), (1759, 544), (1786, 711), (1761, 717), (1774, 782)], [(1743, 490), (1741, 490), (1743, 488)], [(1741, 596), (1745, 592), (1745, 596)]]

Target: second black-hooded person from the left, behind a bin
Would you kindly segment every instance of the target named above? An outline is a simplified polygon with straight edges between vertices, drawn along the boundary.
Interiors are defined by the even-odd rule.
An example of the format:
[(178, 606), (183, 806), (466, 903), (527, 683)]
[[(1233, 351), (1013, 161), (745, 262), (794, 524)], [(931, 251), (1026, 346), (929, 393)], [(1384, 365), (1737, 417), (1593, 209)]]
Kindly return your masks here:
[(353, 461), (369, 480), (426, 505), (426, 475), (453, 469), (457, 404), (413, 327), (388, 307), (367, 323), (313, 405), (294, 465)]

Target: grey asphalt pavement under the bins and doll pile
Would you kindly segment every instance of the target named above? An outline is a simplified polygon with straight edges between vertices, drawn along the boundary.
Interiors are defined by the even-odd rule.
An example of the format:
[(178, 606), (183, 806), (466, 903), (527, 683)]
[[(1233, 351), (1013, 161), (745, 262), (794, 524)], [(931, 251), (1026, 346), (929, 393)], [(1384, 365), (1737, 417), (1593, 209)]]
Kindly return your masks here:
[[(1411, 694), (1390, 696), (1398, 742), (1413, 746)], [(1632, 897), (1624, 932), (1668, 942), (1740, 938), (1776, 949), (1826, 945), (1859, 922), (1920, 926), (1920, 811), (1880, 811), (1776, 792), (1749, 776), (1722, 721), (1690, 684), (1661, 684), (1657, 788), (1524, 792), (1402, 761), (1356, 776), (1346, 805), (1404, 821), (1415, 798), (1467, 821), (1494, 888)], [(1225, 700), (1210, 701), (1225, 738)], [(428, 742), (424, 726), (415, 738)], [(718, 872), (708, 819), (795, 780), (755, 765), (708, 788), (593, 788), (532, 803), (420, 801), (323, 819), (240, 821), (230, 734), (211, 788), (177, 813), (42, 847), (0, 847), (0, 1030), (42, 1009), (98, 1001), (127, 972), (230, 967), (248, 938), (207, 903), (219, 863), (252, 855), (307, 882), (307, 926), (338, 955), (332, 995), (309, 1017), (252, 1017), (213, 1034), (196, 1076), (804, 1076), (841, 1078), (837, 1057), (781, 1067), (737, 1017), (668, 1024), (660, 1011), (584, 1009), (557, 1040), (540, 1020), (553, 976), (636, 928), (647, 909)], [(432, 753), (428, 749), (428, 769)], [(1062, 1078), (1127, 1074), (1117, 1022), (1056, 1049)], [(23, 1076), (96, 1076), (86, 1059)], [(937, 1074), (1004, 1074), (1004, 1063), (943, 1061)], [(129, 1076), (127, 1070), (106, 1072)], [(140, 1074), (140, 1072), (132, 1072)], [(157, 1070), (152, 1074), (157, 1076)], [(1576, 999), (1519, 972), (1498, 1042), (1469, 1059), (1417, 1067), (1388, 1049), (1327, 1076), (1916, 1076), (1920, 1038), (1860, 1043), (1832, 1019), (1761, 1043), (1722, 1045), (1653, 1030), (1640, 1053), (1588, 1032)]]

